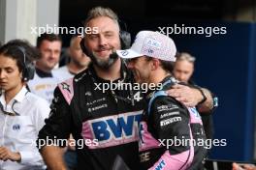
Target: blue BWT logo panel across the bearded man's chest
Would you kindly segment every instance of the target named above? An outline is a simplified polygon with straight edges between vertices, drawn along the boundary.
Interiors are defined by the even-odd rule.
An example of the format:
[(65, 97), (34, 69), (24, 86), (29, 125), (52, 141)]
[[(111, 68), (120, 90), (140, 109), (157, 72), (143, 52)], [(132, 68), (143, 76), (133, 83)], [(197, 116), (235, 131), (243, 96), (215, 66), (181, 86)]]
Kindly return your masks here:
[(83, 123), (81, 135), (98, 139), (100, 148), (137, 141), (141, 119), (142, 111), (137, 111), (89, 120)]

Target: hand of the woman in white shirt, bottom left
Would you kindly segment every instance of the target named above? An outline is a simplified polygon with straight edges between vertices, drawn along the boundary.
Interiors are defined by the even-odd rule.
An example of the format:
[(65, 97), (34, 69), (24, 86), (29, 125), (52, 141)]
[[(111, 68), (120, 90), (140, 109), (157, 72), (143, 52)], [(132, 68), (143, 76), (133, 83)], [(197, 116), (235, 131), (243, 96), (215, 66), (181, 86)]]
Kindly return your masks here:
[(6, 147), (0, 147), (0, 159), (4, 161), (8, 159), (12, 161), (20, 161), (21, 156), (19, 153), (14, 153)]

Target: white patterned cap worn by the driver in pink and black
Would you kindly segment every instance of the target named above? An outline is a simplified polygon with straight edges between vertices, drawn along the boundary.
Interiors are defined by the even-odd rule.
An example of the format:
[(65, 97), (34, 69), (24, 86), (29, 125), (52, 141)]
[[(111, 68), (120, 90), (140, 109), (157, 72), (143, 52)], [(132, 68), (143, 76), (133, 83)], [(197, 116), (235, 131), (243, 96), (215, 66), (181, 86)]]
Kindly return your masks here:
[(175, 42), (159, 32), (141, 31), (137, 34), (130, 49), (116, 50), (118, 56), (124, 59), (141, 57), (143, 55), (164, 61), (176, 61)]

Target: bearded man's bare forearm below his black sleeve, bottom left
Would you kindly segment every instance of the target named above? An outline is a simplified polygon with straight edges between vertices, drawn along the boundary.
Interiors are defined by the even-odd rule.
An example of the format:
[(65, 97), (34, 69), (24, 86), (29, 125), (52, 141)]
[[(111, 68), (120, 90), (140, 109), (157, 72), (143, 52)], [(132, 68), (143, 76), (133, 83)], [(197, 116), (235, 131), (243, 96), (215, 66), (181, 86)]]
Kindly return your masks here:
[(49, 170), (66, 170), (66, 165), (63, 160), (63, 151), (57, 146), (45, 146), (41, 150), (41, 155), (48, 165)]

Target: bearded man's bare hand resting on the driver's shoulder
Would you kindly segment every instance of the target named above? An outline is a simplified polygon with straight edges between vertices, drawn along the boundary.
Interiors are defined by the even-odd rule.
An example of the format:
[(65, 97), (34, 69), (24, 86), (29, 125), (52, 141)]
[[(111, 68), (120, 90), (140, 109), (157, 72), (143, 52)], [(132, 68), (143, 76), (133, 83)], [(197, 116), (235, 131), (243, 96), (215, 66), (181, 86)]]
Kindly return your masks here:
[(198, 89), (190, 88), (181, 84), (172, 86), (172, 89), (168, 90), (167, 93), (169, 96), (182, 102), (188, 107), (196, 106), (203, 99), (203, 96)]

